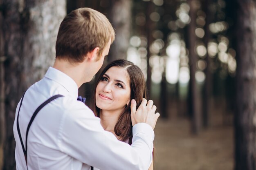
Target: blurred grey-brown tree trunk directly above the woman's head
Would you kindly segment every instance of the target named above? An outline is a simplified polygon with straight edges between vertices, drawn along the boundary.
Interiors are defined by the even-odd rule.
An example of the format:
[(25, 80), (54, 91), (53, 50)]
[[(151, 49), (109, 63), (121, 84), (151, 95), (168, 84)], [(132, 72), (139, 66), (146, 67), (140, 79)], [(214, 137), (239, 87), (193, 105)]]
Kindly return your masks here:
[(108, 62), (126, 59), (130, 40), (131, 0), (111, 0), (110, 22), (115, 28), (115, 41), (108, 55)]

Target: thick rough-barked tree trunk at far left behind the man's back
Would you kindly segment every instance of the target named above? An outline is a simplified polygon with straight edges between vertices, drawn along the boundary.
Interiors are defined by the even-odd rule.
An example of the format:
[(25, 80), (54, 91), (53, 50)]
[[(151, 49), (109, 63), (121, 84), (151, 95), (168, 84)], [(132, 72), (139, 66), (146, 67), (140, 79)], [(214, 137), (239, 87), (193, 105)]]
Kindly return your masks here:
[[(65, 0), (2, 0), (5, 123), (4, 170), (14, 170), (13, 121), (25, 90), (43, 77), (55, 58), (58, 27), (66, 14)], [(8, 85), (7, 85), (8, 84)]]

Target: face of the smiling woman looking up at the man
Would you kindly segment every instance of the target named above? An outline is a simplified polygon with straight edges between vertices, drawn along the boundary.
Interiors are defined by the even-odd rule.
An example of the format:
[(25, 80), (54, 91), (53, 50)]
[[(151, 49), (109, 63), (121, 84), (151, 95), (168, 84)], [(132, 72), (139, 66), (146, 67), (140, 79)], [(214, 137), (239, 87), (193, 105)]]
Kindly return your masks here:
[(126, 69), (110, 67), (97, 85), (96, 106), (101, 110), (121, 112), (130, 102), (130, 92), (130, 78)]

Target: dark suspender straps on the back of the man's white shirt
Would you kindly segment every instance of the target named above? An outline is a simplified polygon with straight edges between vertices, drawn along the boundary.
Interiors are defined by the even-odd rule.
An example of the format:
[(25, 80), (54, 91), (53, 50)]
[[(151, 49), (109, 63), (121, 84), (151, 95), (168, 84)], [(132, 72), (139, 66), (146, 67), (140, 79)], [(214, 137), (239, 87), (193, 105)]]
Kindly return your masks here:
[[(26, 93), (26, 92), (25, 92), (25, 93)], [(25, 95), (25, 93), (24, 93), (24, 95)], [(23, 101), (24, 95), (22, 96), (22, 99), (21, 99), (21, 101), (20, 101), (20, 107), (21, 107), (21, 105), (22, 105), (22, 101)], [(20, 107), (19, 107), (18, 115), (17, 115), (17, 130), (18, 130), (18, 134), (19, 134), (19, 137), (20, 137), (20, 143), (21, 143), (22, 150), (23, 150), (23, 153), (24, 153), (24, 156), (25, 156), (26, 164), (27, 164), (27, 136), (28, 136), (28, 133), (29, 133), (29, 128), (30, 128), (32, 122), (34, 121), (36, 115), (38, 114), (38, 112), (39, 112), (45, 105), (47, 105), (48, 103), (52, 102), (54, 99), (57, 99), (58, 97), (63, 97), (63, 95), (54, 95), (54, 96), (50, 97), (50, 98), (47, 99), (45, 102), (43, 102), (43, 104), (41, 104), (41, 105), (36, 109), (36, 111), (33, 113), (32, 117), (31, 117), (31, 119), (30, 119), (30, 121), (29, 121), (29, 124), (28, 124), (28, 126), (27, 126), (25, 147), (24, 147), (24, 144), (23, 144), (23, 141), (22, 141), (22, 138), (21, 138), (21, 134), (20, 134), (20, 126), (19, 126)]]

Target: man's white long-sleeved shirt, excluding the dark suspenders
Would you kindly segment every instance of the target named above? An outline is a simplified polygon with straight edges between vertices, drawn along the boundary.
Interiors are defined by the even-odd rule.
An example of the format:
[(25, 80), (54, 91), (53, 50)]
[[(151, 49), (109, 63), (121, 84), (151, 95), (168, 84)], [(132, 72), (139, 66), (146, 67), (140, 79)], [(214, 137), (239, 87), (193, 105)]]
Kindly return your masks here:
[[(83, 102), (77, 101), (74, 80), (50, 67), (45, 77), (25, 93), (19, 113), (19, 126), (25, 145), (27, 126), (34, 111), (53, 95), (63, 95), (47, 104), (34, 119), (27, 138), (29, 170), (147, 170), (152, 161), (153, 129), (145, 123), (133, 129), (132, 146), (118, 141), (105, 131), (100, 119)], [(26, 170), (25, 157), (18, 136), (16, 117), (16, 168)]]

